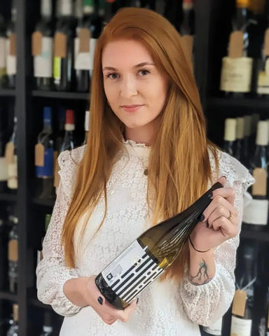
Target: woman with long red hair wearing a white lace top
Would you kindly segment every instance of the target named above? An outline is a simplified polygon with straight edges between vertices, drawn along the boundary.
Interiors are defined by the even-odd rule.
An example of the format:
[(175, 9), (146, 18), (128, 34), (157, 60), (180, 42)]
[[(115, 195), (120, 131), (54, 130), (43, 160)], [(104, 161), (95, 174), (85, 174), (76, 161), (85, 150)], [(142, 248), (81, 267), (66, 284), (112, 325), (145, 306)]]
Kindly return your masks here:
[[(180, 36), (165, 18), (120, 10), (94, 62), (87, 145), (59, 157), (61, 183), (37, 268), (39, 300), (66, 316), (64, 336), (200, 335), (198, 324), (221, 318), (233, 300), (242, 194), (253, 179), (207, 140)], [(112, 307), (95, 275), (218, 178), (225, 188), (214, 191), (163, 278), (139, 303)]]

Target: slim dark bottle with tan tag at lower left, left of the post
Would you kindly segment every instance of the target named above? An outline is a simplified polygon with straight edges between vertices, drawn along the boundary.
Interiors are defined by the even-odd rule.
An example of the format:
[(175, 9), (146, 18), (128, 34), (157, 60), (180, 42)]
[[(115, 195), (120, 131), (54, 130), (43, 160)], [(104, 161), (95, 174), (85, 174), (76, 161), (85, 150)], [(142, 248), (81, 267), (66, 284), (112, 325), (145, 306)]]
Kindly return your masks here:
[(18, 217), (15, 214), (8, 216), (11, 231), (8, 235), (8, 280), (11, 293), (18, 290)]

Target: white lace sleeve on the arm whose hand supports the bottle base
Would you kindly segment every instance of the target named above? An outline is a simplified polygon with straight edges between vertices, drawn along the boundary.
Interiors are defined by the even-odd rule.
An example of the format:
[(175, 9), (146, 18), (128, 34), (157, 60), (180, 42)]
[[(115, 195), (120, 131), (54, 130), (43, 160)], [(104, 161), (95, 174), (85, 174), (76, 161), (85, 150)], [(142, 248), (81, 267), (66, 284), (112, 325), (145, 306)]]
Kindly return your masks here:
[[(64, 218), (69, 207), (70, 193), (66, 193), (64, 158), (70, 157), (69, 152), (63, 152), (59, 156), (61, 181), (57, 190), (57, 200), (53, 209), (53, 215), (48, 226), (46, 237), (43, 241), (43, 260), (39, 262), (36, 269), (36, 286), (39, 300), (45, 304), (50, 304), (57, 314), (72, 316), (81, 307), (76, 306), (64, 295), (63, 286), (69, 279), (79, 276), (78, 269), (70, 269), (64, 265), (64, 251), (61, 245), (61, 232)], [(64, 160), (68, 171), (71, 169), (71, 162)], [(64, 182), (64, 183), (63, 183)]]

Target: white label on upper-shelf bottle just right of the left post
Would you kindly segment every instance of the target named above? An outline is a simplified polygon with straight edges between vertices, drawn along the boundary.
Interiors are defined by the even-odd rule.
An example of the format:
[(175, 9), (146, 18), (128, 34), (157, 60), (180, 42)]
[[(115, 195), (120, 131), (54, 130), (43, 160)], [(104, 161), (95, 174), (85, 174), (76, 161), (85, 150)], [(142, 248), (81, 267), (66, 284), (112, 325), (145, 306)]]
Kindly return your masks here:
[(42, 38), (42, 53), (34, 56), (34, 76), (51, 78), (53, 76), (53, 38)]

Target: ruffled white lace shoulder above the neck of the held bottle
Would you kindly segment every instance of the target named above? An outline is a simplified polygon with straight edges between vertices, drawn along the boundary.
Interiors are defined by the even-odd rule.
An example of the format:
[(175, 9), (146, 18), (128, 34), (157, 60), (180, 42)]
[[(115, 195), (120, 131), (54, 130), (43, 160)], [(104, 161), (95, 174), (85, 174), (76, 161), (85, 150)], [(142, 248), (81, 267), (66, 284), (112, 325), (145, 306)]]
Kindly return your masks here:
[[(226, 176), (228, 186), (233, 186), (233, 183), (239, 182), (242, 183), (244, 190), (247, 190), (247, 188), (254, 183), (254, 179), (251, 174), (249, 174), (249, 170), (244, 167), (241, 162), (233, 158), (233, 156), (216, 149), (216, 166), (215, 156), (212, 149), (209, 148), (208, 152), (214, 180), (218, 179), (220, 176)], [(219, 168), (219, 172), (217, 168)]]

